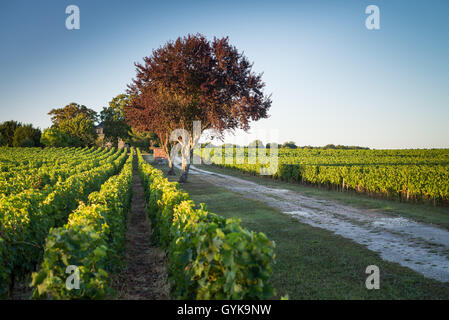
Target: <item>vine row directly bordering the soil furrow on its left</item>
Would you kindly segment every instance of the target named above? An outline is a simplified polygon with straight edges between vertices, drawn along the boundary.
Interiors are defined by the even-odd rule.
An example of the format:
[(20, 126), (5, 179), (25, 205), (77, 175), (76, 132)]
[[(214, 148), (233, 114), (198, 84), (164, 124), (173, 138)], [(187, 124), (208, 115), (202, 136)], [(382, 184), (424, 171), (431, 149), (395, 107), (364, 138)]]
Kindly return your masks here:
[[(64, 227), (51, 230), (44, 261), (33, 274), (35, 298), (103, 299), (112, 294), (109, 272), (122, 264), (126, 213), (132, 193), (133, 152), (121, 173), (109, 178), (70, 214)], [(80, 289), (66, 286), (66, 268), (79, 268)]]

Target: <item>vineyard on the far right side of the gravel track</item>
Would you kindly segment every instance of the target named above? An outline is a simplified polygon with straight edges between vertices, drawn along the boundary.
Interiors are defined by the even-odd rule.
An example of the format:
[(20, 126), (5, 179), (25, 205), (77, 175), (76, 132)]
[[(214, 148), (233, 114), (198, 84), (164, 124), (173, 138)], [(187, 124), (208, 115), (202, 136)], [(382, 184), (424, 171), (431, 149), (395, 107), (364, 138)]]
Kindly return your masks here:
[[(262, 149), (263, 150), (263, 149)], [(267, 149), (267, 155), (270, 154)], [(257, 152), (248, 153), (244, 161), (235, 160), (236, 149), (223, 148), (221, 154), (212, 150), (203, 158), (221, 167), (259, 174), (267, 167)], [(258, 151), (262, 154), (262, 151)], [(197, 152), (199, 154), (199, 151)], [(225, 161), (225, 155), (234, 160)], [(277, 172), (274, 179), (313, 184), (403, 201), (449, 203), (449, 150), (332, 150), (284, 149), (279, 150)]]

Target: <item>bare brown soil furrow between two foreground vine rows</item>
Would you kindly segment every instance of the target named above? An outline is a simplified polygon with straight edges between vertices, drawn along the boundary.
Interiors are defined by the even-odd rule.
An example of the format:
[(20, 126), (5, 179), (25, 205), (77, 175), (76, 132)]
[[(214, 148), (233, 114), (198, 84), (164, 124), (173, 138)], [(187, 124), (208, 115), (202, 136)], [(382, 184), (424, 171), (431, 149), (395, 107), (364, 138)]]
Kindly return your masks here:
[(134, 163), (133, 198), (126, 233), (126, 269), (120, 275), (118, 299), (169, 299), (165, 254), (150, 242), (151, 228), (146, 214), (144, 190)]

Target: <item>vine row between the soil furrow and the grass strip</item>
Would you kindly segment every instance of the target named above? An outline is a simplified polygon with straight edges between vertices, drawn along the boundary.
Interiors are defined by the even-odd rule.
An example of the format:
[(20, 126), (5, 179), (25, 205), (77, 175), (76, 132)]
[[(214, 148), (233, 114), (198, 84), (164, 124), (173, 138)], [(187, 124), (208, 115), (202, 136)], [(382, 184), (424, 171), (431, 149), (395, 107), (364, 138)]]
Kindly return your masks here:
[(147, 164), (138, 150), (155, 240), (168, 250), (168, 276), (177, 299), (268, 299), (274, 242), (196, 208), (189, 195)]

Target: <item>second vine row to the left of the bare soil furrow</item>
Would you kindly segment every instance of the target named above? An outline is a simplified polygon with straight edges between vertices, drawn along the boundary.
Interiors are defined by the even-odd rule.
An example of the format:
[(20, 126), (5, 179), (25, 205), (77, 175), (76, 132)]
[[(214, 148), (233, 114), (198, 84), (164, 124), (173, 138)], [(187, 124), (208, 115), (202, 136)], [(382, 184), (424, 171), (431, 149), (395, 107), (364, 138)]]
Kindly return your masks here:
[(78, 202), (98, 190), (126, 160), (125, 152), (107, 154), (101, 161), (86, 164), (95, 167), (45, 190), (30, 189), (0, 200), (0, 295), (39, 263), (48, 231), (62, 225)]

